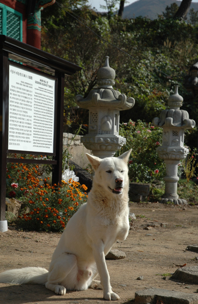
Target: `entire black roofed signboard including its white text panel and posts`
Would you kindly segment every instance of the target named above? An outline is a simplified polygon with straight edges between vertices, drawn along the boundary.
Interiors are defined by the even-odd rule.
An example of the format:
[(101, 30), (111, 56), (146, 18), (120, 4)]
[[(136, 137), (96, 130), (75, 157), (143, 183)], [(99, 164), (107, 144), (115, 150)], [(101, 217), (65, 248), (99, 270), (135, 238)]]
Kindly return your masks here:
[(21, 163), (8, 153), (52, 156), (23, 163), (53, 165), (61, 183), (64, 78), (81, 67), (0, 35), (0, 231), (7, 231), (6, 164)]

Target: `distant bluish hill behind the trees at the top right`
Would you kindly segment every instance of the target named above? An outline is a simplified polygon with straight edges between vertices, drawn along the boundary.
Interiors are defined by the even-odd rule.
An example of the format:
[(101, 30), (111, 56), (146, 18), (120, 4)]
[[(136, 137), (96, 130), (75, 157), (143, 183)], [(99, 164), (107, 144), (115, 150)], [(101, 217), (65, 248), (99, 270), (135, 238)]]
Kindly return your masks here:
[[(124, 7), (123, 18), (136, 18), (138, 16), (147, 17), (150, 19), (158, 18), (158, 15), (162, 15), (165, 9), (172, 3), (176, 3), (180, 6), (181, 1), (174, 0), (138, 0), (128, 6)], [(190, 9), (198, 11), (198, 3), (191, 3)]]

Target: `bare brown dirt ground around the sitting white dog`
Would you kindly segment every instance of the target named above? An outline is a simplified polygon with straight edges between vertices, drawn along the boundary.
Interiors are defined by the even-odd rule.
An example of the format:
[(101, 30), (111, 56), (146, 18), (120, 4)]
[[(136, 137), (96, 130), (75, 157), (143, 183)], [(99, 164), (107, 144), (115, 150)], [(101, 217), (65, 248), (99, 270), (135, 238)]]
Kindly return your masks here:
[[(145, 287), (194, 293), (197, 285), (164, 280), (163, 274), (174, 273), (181, 265), (198, 265), (198, 253), (186, 251), (187, 245), (198, 244), (197, 206), (170, 206), (159, 203), (131, 204), (133, 221), (124, 242), (113, 248), (126, 253), (121, 260), (107, 260), (113, 291), (120, 300), (131, 303), (135, 291)], [(166, 223), (160, 226), (161, 223)], [(150, 225), (149, 230), (145, 227)], [(48, 269), (61, 234), (11, 231), (0, 233), (0, 271), (27, 266)], [(112, 249), (113, 249), (112, 248)], [(198, 258), (198, 257), (197, 257)], [(143, 276), (143, 280), (137, 280)], [(102, 290), (68, 291), (56, 295), (43, 285), (0, 284), (2, 304), (70, 304), (108, 303)]]

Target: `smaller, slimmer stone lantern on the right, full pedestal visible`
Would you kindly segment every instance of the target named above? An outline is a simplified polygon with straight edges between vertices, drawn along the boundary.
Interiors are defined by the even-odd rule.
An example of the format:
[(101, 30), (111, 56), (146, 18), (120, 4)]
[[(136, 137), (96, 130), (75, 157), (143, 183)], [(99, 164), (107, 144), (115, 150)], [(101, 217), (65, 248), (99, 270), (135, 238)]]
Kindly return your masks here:
[(175, 86), (175, 93), (168, 99), (170, 109), (162, 110), (160, 118), (156, 117), (153, 120), (154, 126), (163, 128), (162, 146), (157, 148), (159, 157), (166, 164), (165, 194), (161, 203), (171, 201), (175, 205), (187, 204), (177, 195), (177, 170), (179, 161), (185, 159), (189, 153), (188, 148), (184, 146), (184, 130), (195, 126), (195, 122), (189, 119), (188, 112), (180, 110), (182, 102), (178, 86)]

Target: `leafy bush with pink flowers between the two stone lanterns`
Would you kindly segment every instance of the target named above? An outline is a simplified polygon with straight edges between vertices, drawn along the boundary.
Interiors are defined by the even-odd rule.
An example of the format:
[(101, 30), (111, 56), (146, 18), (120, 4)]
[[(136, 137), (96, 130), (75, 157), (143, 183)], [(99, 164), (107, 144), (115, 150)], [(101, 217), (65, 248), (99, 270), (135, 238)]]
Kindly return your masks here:
[(140, 120), (136, 123), (130, 120), (120, 125), (120, 135), (126, 138), (126, 144), (116, 155), (132, 148), (128, 162), (130, 180), (143, 183), (162, 179), (165, 165), (156, 152), (162, 140), (162, 129)]

